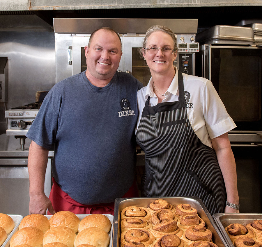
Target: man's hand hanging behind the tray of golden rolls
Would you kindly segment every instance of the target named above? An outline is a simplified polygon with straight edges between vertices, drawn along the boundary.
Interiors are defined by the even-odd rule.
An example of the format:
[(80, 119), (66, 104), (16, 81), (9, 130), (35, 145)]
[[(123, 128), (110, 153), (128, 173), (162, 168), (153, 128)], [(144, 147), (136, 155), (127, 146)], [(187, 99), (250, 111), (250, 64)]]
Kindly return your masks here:
[(48, 197), (45, 194), (30, 196), (30, 202), (29, 202), (30, 214), (46, 214), (47, 209), (50, 212), (50, 214), (55, 213), (51, 201), (48, 199)]

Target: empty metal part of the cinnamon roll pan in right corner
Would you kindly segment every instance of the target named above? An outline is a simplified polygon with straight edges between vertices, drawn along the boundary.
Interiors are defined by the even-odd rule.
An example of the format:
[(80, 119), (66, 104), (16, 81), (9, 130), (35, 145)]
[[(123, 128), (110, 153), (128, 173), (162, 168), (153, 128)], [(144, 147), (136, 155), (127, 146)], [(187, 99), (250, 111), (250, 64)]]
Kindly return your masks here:
[(225, 231), (225, 227), (233, 223), (239, 223), (242, 225), (247, 225), (248, 223), (252, 222), (256, 219), (262, 219), (262, 214), (243, 214), (243, 213), (221, 213), (221, 214), (214, 214), (215, 223), (217, 224), (218, 228), (220, 229), (227, 245), (229, 247), (234, 247), (232, 241), (230, 240), (229, 236)]

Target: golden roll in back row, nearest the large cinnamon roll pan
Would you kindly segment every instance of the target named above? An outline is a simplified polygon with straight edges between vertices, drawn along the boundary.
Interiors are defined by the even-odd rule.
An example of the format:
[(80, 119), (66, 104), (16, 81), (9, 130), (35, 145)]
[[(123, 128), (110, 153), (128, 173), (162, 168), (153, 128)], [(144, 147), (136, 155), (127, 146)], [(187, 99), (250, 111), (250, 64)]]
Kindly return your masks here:
[(89, 227), (98, 227), (105, 232), (109, 232), (111, 229), (111, 221), (103, 214), (90, 214), (80, 221), (78, 232)]

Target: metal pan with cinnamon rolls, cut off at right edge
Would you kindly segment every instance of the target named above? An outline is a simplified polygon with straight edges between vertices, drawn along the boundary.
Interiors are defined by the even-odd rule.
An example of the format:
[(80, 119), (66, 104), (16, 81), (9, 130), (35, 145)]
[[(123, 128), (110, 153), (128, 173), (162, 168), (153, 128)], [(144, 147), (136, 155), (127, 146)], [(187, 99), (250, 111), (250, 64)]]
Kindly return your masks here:
[(213, 217), (229, 247), (262, 246), (262, 214), (220, 213)]

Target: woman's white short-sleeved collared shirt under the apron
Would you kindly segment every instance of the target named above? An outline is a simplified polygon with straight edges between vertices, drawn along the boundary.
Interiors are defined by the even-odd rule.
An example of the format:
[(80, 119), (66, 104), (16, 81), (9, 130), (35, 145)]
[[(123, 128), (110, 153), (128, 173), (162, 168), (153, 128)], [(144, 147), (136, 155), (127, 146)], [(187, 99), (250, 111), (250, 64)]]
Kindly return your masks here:
[[(176, 69), (176, 68), (175, 68)], [(223, 135), (236, 127), (226, 111), (217, 91), (210, 80), (183, 74), (187, 116), (190, 124), (203, 144), (212, 147), (211, 139)], [(153, 79), (137, 94), (140, 123), (143, 108), (150, 96), (149, 106), (157, 105), (157, 96), (153, 91)], [(178, 101), (178, 73), (175, 74), (162, 102)], [(137, 132), (137, 128), (135, 132)]]

